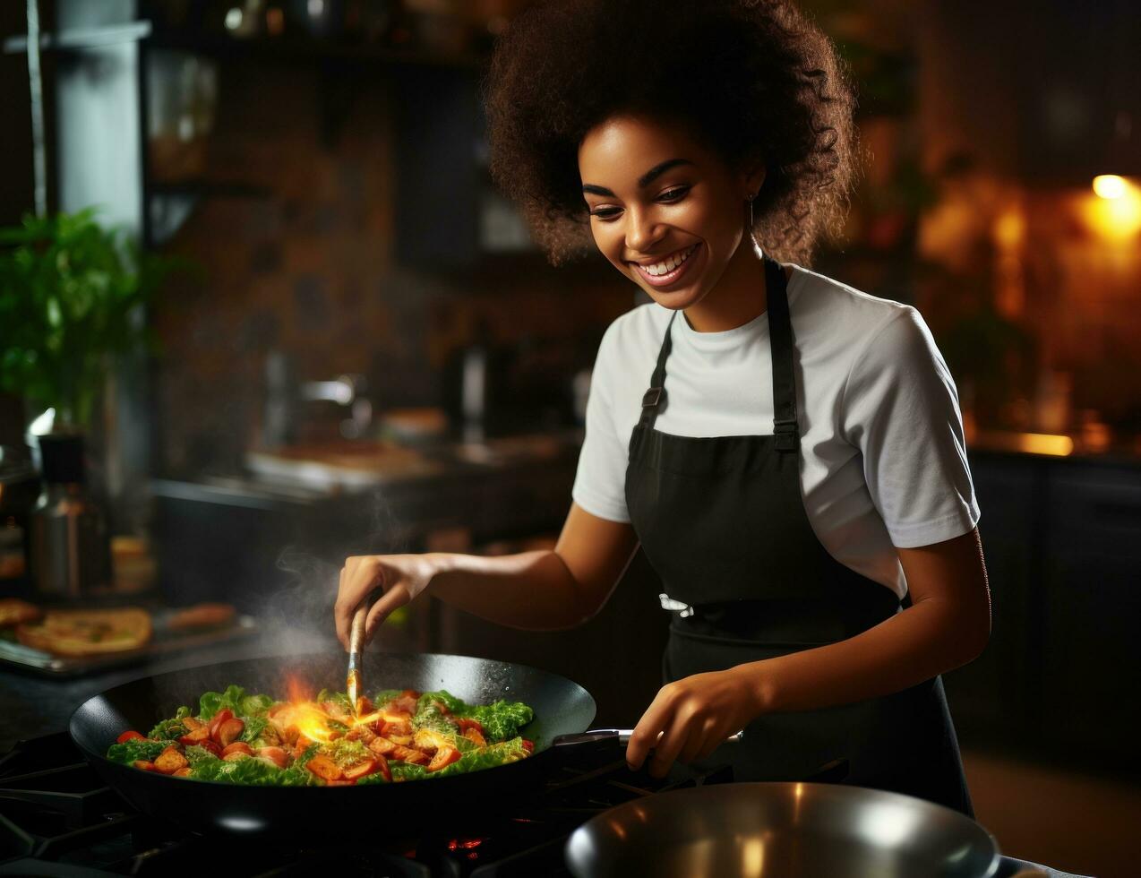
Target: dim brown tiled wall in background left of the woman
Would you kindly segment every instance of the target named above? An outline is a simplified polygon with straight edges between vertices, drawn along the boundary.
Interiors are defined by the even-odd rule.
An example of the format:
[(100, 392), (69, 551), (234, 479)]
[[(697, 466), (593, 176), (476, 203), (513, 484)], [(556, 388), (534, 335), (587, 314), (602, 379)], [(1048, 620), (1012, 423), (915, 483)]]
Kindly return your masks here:
[(258, 441), (270, 349), (302, 380), (364, 373), (381, 408), (431, 405), (442, 366), (477, 325), (502, 343), (561, 340), (589, 363), (630, 307), (632, 288), (598, 257), (555, 269), (534, 255), (469, 276), (398, 265), (394, 86), (339, 80), (347, 114), (326, 142), (321, 83), (305, 65), (220, 70), (205, 177), (268, 194), (202, 199), (167, 247), (203, 271), (156, 309), (163, 472), (240, 465)]

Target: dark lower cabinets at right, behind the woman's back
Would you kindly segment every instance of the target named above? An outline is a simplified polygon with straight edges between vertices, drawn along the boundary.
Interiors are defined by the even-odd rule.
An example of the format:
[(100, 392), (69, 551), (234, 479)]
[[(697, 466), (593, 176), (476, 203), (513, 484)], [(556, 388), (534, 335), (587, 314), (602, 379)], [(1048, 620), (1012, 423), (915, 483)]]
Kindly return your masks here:
[(1141, 467), (976, 454), (990, 643), (945, 675), (965, 746), (1127, 764), (1141, 727)]

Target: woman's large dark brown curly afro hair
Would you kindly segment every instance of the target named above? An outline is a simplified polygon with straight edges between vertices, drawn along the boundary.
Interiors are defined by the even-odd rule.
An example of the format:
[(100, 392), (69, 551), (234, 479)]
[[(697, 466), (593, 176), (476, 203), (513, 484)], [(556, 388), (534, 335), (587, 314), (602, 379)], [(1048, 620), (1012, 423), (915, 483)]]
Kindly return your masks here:
[(590, 245), (578, 145), (617, 114), (678, 122), (733, 169), (766, 166), (753, 233), (809, 265), (855, 176), (855, 97), (785, 0), (556, 0), (499, 39), (484, 83), (491, 171), (555, 264)]

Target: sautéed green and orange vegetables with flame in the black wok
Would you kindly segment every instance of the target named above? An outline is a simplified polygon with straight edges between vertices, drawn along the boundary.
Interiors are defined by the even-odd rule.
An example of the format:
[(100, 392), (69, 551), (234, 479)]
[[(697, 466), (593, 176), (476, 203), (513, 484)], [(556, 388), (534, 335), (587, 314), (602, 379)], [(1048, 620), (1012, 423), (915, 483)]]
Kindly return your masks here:
[(272, 787), (343, 787), (443, 778), (517, 762), (534, 744), (521, 702), (468, 704), (448, 692), (386, 690), (357, 704), (322, 690), (275, 701), (241, 686), (207, 692), (147, 735), (123, 732), (107, 758), (176, 778)]

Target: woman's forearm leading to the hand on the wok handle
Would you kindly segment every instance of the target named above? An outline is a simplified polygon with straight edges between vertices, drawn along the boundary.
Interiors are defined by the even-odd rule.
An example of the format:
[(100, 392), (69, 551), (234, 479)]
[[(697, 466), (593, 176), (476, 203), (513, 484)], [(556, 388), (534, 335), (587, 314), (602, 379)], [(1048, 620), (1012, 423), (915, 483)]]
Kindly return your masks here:
[(939, 601), (921, 601), (840, 643), (738, 666), (762, 712), (816, 710), (888, 695), (974, 659), (979, 621)]

